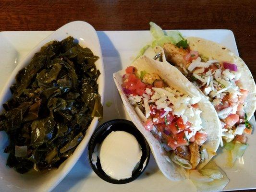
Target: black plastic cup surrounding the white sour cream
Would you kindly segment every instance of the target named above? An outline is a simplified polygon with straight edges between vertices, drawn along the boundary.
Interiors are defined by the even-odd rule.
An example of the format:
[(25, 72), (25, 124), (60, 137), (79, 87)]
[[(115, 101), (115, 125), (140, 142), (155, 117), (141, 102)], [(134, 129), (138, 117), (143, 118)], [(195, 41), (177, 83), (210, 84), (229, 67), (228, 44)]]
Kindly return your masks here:
[[(131, 132), (128, 132), (132, 135), (134, 135), (134, 137), (136, 138), (137, 142), (141, 145), (140, 141), (138, 141), (137, 137), (140, 137), (142, 138), (141, 142), (144, 143), (143, 146), (146, 146), (146, 148), (144, 148), (145, 152), (146, 152), (146, 159), (144, 160), (143, 162), (143, 168), (142, 170), (140, 170), (140, 172), (130, 178), (127, 178), (127, 179), (124, 179), (124, 180), (116, 180), (116, 179), (113, 179), (111, 178), (110, 176), (108, 176), (107, 174), (102, 174), (100, 171), (98, 171), (98, 168), (95, 168), (95, 166), (93, 165), (93, 162), (92, 162), (92, 154), (94, 153), (94, 149), (95, 149), (95, 146), (97, 144), (97, 141), (95, 139), (97, 139), (98, 136), (100, 136), (99, 134), (105, 130), (105, 129), (108, 129), (108, 127), (112, 124), (112, 123), (123, 123), (123, 124), (126, 124), (128, 126), (131, 126), (134, 128), (134, 131), (136, 132), (137, 135), (134, 135), (133, 133)], [(110, 127), (111, 129), (111, 127)], [(118, 131), (118, 130), (116, 130)], [(122, 130), (124, 131), (124, 130)], [(141, 147), (143, 147), (141, 145)], [(98, 177), (100, 177), (102, 180), (105, 180), (109, 183), (112, 183), (112, 184), (126, 184), (126, 183), (129, 183), (129, 182), (132, 182), (134, 180), (136, 180), (145, 170), (146, 170), (146, 167), (149, 163), (149, 159), (150, 159), (150, 147), (146, 141), (146, 138), (144, 137), (144, 135), (136, 128), (136, 126), (134, 125), (134, 123), (130, 120), (125, 120), (125, 119), (114, 119), (114, 120), (109, 120), (109, 121), (106, 121), (104, 122), (103, 124), (101, 124), (100, 126), (98, 126), (98, 128), (95, 130), (95, 132), (93, 133), (93, 135), (91, 136), (91, 139), (89, 141), (89, 144), (88, 144), (88, 158), (89, 158), (89, 164), (91, 166), (91, 168), (93, 169), (93, 171), (98, 175)], [(143, 156), (143, 155), (142, 155)], [(145, 164), (146, 162), (146, 164)], [(138, 168), (137, 168), (138, 169)], [(101, 169), (102, 170), (102, 169)], [(102, 170), (103, 171), (103, 170)], [(103, 171), (104, 172), (104, 171)]]

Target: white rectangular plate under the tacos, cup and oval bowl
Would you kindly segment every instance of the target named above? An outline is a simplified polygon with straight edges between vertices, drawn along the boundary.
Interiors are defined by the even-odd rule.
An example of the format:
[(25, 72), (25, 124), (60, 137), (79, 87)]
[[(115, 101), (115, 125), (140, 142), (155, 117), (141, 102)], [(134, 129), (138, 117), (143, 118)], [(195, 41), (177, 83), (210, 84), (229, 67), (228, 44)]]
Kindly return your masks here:
[[(234, 53), (238, 54), (235, 39), (230, 30), (180, 30), (184, 36), (198, 36), (216, 41)], [(20, 31), (0, 32), (0, 89), (5, 84), (17, 63), (48, 36), (50, 31)], [(112, 102), (110, 107), (104, 104), (104, 120), (122, 118), (129, 119), (125, 113), (122, 101), (113, 82), (112, 74), (128, 66), (134, 60), (138, 51), (151, 41), (149, 31), (107, 31), (98, 32), (103, 60), (105, 64), (105, 102)], [(251, 122), (256, 127), (255, 119)], [(249, 136), (249, 147), (244, 156), (233, 168), (223, 168), (230, 182), (226, 191), (256, 188), (255, 159), (256, 134)], [(2, 153), (2, 152), (0, 152)], [(218, 162), (217, 162), (218, 163)], [(220, 164), (220, 163), (218, 163)], [(162, 192), (162, 191), (190, 191), (196, 189), (190, 180), (173, 182), (166, 179), (151, 156), (149, 164), (141, 177), (123, 185), (110, 184), (98, 178), (92, 171), (87, 160), (87, 149), (78, 160), (70, 173), (53, 190), (54, 192)]]

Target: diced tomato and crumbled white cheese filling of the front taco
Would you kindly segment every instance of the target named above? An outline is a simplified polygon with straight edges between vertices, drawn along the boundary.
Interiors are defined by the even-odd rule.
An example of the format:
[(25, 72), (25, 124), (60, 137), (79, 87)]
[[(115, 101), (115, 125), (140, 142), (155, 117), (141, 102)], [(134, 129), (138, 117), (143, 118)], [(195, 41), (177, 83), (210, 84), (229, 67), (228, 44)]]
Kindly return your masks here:
[(195, 169), (208, 157), (202, 147), (207, 141), (198, 108), (200, 98), (192, 98), (167, 85), (156, 73), (127, 67), (122, 89), (146, 130), (162, 144), (172, 161)]

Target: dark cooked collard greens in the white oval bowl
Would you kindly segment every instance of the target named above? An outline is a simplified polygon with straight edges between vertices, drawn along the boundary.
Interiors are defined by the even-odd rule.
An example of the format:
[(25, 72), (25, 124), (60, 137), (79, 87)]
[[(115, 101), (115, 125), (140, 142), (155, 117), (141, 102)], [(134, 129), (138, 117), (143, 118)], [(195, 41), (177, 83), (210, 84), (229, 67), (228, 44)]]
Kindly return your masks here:
[(71, 36), (42, 47), (16, 75), (3, 104), (0, 131), (9, 136), (7, 165), (19, 173), (58, 168), (102, 118), (98, 57)]

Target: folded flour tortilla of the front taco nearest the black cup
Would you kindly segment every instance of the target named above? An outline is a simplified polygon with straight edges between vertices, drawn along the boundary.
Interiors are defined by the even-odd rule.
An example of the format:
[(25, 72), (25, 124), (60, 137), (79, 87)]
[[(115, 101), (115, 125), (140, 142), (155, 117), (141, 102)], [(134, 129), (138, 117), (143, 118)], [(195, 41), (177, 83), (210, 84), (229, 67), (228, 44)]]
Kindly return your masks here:
[[(207, 149), (209, 158), (206, 159), (203, 163), (201, 163), (198, 168), (202, 168), (207, 162), (215, 155), (220, 143), (221, 138), (221, 125), (218, 118), (218, 115), (211, 105), (211, 103), (207, 100), (205, 96), (203, 96), (196, 87), (187, 80), (183, 74), (171, 66), (163, 55), (163, 62), (156, 61), (148, 58), (147, 56), (141, 56), (137, 60), (132, 63), (138, 73), (141, 71), (146, 71), (148, 73), (157, 73), (161, 79), (163, 79), (169, 86), (177, 89), (178, 91), (187, 94), (192, 97), (200, 97), (199, 101), (199, 109), (202, 111), (201, 119), (203, 130), (207, 132), (207, 142), (203, 144), (202, 147)], [(119, 91), (119, 94), (122, 98), (123, 105), (129, 114), (131, 120), (134, 122), (137, 129), (145, 136), (148, 144), (150, 145), (151, 151), (155, 160), (158, 164), (161, 172), (170, 180), (183, 180), (187, 178), (187, 172), (184, 168), (175, 164), (170, 160), (168, 156), (165, 154), (165, 150), (163, 149), (160, 142), (153, 136), (153, 134), (147, 131), (143, 125), (142, 120), (138, 117), (136, 112), (134, 111), (134, 107), (129, 103), (128, 98), (125, 96), (122, 90), (122, 76), (125, 74), (125, 71), (119, 71), (113, 74), (115, 84)]]

